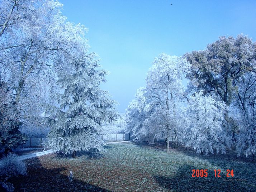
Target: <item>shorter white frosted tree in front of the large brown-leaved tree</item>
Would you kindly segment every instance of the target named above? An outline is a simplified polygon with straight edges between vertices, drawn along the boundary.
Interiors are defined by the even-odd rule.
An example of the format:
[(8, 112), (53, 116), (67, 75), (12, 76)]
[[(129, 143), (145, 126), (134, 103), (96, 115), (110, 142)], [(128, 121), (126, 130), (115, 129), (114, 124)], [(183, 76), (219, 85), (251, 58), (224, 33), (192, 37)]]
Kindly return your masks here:
[(196, 153), (209, 152), (226, 153), (232, 140), (223, 127), (226, 104), (216, 101), (212, 96), (204, 96), (203, 91), (195, 93), (188, 102), (189, 131), (186, 147), (196, 150)]

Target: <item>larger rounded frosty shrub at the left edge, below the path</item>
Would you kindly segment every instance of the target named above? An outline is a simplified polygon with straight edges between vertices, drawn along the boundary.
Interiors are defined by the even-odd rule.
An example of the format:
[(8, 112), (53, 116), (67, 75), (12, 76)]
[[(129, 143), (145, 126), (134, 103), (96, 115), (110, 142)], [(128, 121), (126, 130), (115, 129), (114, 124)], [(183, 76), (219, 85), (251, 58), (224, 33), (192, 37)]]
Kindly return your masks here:
[(0, 176), (6, 179), (18, 175), (27, 175), (27, 167), (23, 161), (18, 160), (18, 155), (9, 153), (0, 160)]

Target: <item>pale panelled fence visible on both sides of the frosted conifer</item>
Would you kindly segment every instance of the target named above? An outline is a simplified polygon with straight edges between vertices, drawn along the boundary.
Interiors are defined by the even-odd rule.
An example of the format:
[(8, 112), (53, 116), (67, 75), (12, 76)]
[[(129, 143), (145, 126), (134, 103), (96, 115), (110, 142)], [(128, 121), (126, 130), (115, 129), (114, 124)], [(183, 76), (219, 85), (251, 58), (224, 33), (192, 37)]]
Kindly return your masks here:
[[(99, 138), (105, 142), (112, 142), (112, 141), (128, 141), (132, 140), (133, 138), (131, 135), (128, 134), (108, 134), (108, 135), (99, 135)], [(23, 147), (40, 147), (44, 145), (44, 142), (48, 138), (29, 138)]]

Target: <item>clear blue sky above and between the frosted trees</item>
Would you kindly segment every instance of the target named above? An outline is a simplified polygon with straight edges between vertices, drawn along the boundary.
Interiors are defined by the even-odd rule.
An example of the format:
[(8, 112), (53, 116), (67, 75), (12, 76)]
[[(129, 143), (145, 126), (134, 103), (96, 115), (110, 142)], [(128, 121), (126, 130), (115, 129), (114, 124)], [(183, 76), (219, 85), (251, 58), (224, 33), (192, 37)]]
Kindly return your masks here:
[(110, 71), (102, 88), (120, 103), (120, 112), (144, 86), (158, 54), (182, 56), (240, 33), (256, 40), (256, 0), (59, 1), (68, 21), (89, 29), (90, 51)]

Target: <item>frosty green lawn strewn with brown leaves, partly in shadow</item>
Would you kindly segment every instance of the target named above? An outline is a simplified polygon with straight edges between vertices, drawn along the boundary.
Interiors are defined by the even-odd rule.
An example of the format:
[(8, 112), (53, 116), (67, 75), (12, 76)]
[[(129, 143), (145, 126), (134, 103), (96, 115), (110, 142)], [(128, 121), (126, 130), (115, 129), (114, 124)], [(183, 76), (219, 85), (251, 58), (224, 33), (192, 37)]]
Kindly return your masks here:
[[(28, 176), (13, 178), (15, 191), (256, 191), (256, 163), (226, 155), (199, 155), (179, 147), (108, 144), (103, 157), (78, 159), (47, 154), (25, 160)], [(251, 159), (250, 159), (251, 160)], [(192, 169), (208, 169), (208, 177), (192, 177)], [(221, 169), (221, 177), (214, 176)], [(234, 177), (226, 177), (233, 169)], [(68, 180), (69, 171), (74, 180)]]

